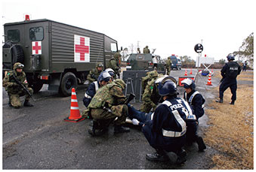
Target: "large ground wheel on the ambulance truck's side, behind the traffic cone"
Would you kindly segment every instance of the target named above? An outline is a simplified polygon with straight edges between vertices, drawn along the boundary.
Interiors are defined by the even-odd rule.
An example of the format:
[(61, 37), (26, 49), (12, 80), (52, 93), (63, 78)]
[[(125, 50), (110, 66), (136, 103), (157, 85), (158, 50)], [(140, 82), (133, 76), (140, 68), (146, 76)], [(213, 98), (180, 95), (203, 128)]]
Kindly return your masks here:
[(59, 90), (63, 96), (69, 96), (71, 95), (72, 88), (76, 88), (76, 86), (77, 86), (76, 75), (73, 74), (72, 72), (67, 72), (62, 77)]

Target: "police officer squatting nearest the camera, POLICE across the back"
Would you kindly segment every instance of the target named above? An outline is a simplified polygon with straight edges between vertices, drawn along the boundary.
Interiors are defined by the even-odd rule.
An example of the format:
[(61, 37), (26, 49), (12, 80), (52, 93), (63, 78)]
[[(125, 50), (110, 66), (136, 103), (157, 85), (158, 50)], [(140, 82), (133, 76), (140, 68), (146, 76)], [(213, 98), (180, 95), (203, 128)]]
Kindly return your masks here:
[(147, 154), (150, 161), (168, 161), (168, 152), (177, 154), (177, 164), (186, 161), (186, 152), (182, 147), (186, 141), (186, 119), (193, 115), (190, 105), (182, 98), (177, 98), (177, 86), (172, 80), (162, 80), (158, 86), (163, 102), (156, 107), (142, 128), (150, 146), (156, 149)]

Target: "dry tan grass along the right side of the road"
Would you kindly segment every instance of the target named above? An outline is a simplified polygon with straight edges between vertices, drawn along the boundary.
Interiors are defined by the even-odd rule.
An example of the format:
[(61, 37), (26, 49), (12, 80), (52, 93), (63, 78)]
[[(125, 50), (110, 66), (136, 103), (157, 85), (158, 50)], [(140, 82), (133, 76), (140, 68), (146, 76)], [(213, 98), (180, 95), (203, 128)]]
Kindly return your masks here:
[[(253, 80), (253, 74), (242, 73), (241, 78)], [(253, 86), (238, 85), (234, 106), (229, 104), (231, 93), (227, 89), (224, 104), (213, 101), (209, 104), (213, 109), (205, 111), (210, 125), (205, 133), (205, 142), (219, 152), (212, 157), (213, 169), (253, 169), (253, 89)], [(214, 91), (218, 92), (218, 88)]]

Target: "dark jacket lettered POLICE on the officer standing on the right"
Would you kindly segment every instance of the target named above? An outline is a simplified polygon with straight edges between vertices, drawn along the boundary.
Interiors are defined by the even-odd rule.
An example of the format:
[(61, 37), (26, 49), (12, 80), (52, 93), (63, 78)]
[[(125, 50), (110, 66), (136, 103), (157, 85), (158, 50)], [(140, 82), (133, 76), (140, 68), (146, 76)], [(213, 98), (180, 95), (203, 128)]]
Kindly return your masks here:
[(241, 67), (237, 62), (227, 62), (221, 69), (221, 76), (224, 80), (236, 80), (237, 75), (241, 72)]

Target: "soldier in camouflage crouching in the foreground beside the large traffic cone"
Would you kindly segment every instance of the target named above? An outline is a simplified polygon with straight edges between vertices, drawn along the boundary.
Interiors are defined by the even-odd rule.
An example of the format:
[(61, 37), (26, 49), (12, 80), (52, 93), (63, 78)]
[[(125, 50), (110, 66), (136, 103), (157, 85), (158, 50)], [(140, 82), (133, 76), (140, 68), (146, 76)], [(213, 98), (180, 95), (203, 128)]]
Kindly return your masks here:
[(94, 119), (93, 128), (89, 130), (89, 134), (103, 134), (107, 130), (108, 125), (116, 119), (114, 132), (128, 132), (129, 128), (122, 125), (128, 115), (128, 107), (125, 103), (125, 95), (122, 91), (125, 89), (125, 82), (117, 79), (106, 86), (101, 87), (92, 98), (88, 108), (91, 111), (91, 117)]

